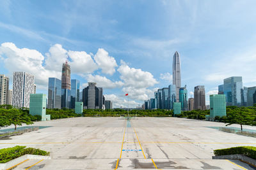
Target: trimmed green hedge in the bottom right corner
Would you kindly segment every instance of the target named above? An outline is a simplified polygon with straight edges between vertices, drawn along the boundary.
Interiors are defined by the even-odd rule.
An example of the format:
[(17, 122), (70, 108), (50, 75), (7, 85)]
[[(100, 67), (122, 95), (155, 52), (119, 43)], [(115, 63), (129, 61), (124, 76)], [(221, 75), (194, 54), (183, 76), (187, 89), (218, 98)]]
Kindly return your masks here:
[(255, 146), (238, 146), (234, 148), (226, 148), (222, 150), (214, 150), (215, 156), (221, 155), (235, 155), (241, 154), (252, 159), (256, 159), (256, 147)]

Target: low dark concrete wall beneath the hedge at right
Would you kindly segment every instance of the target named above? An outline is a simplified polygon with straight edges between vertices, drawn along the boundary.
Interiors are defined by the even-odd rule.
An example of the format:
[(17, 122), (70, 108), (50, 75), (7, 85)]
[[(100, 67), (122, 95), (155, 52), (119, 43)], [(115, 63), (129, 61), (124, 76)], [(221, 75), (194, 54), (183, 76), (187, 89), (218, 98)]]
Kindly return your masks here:
[(255, 159), (252, 159), (250, 157), (246, 157), (244, 155), (239, 155), (239, 154), (236, 154), (236, 155), (221, 155), (221, 156), (212, 156), (212, 159), (233, 159), (233, 160), (241, 160), (245, 163), (248, 163), (248, 164), (252, 164), (253, 166), (256, 167), (256, 160)]

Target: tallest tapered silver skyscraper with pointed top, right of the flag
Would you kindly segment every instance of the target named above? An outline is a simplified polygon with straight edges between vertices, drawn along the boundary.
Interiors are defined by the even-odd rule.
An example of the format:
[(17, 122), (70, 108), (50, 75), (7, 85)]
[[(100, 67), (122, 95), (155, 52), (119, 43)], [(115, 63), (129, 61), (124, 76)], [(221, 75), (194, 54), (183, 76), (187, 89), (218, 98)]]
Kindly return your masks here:
[(180, 55), (178, 52), (175, 52), (173, 55), (172, 75), (173, 75), (173, 85), (176, 86), (176, 101), (179, 102), (179, 89), (181, 86), (181, 79), (180, 79)]

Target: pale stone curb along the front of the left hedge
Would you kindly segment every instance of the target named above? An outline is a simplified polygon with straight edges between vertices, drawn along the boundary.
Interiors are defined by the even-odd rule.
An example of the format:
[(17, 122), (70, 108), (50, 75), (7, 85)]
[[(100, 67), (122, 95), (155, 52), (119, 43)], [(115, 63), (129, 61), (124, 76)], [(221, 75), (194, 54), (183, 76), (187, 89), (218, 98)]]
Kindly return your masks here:
[(20, 162), (23, 162), (24, 160), (27, 160), (27, 159), (52, 159), (51, 157), (49, 156), (41, 156), (41, 155), (23, 155), (17, 159), (13, 159), (13, 160), (10, 160), (9, 162), (6, 162), (4, 164), (0, 164), (0, 170), (4, 170), (4, 169), (8, 169), (10, 167), (13, 167), (17, 164), (19, 164)]

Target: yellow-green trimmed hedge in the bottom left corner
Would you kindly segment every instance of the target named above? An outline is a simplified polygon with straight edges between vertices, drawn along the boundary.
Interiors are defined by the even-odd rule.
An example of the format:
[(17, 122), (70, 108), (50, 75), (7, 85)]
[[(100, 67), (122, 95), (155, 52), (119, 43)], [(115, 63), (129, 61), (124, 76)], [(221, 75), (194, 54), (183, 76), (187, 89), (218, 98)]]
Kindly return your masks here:
[(36, 148), (26, 148), (26, 146), (14, 146), (12, 148), (3, 148), (0, 150), (0, 163), (6, 163), (10, 160), (21, 157), (22, 155), (50, 155), (50, 152)]

